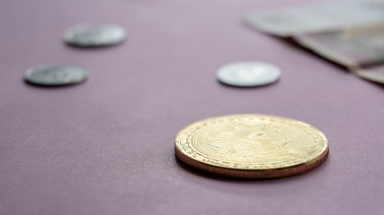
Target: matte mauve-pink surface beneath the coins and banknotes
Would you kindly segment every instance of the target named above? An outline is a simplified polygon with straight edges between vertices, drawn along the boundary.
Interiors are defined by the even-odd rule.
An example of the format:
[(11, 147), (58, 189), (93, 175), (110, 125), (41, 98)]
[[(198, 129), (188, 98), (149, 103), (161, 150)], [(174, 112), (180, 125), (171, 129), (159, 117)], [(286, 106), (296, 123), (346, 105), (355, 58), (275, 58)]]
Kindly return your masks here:
[[(383, 214), (384, 88), (249, 30), (248, 11), (297, 0), (0, 1), (0, 214)], [(312, 1), (313, 2), (313, 1)], [(117, 23), (121, 46), (65, 46), (80, 22)], [(276, 64), (275, 84), (219, 84), (222, 64)], [(78, 64), (82, 84), (22, 80), (39, 64)], [(308, 174), (213, 177), (174, 157), (174, 137), (210, 117), (286, 116), (326, 133)]]

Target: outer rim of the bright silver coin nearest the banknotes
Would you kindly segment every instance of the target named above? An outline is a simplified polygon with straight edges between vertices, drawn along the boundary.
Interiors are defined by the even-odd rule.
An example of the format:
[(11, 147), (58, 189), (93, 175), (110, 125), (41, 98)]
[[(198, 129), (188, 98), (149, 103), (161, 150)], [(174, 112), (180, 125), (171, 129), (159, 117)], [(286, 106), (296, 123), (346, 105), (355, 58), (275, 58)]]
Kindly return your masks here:
[[(271, 79), (271, 81), (269, 82), (257, 82), (257, 83), (248, 83), (248, 84), (238, 84), (237, 82), (227, 82), (225, 81), (225, 79), (222, 78), (222, 75), (220, 75), (221, 73), (224, 73), (223, 71), (226, 71), (226, 68), (229, 67), (229, 66), (236, 66), (237, 64), (264, 64), (264, 65), (267, 65), (267, 66), (270, 66), (272, 67), (273, 70), (275, 70), (277, 72), (277, 75), (274, 79)], [(236, 63), (231, 63), (231, 64), (225, 64), (223, 66), (221, 66), (218, 70), (218, 72), (216, 73), (216, 78), (219, 80), (219, 82), (221, 83), (224, 83), (226, 85), (229, 85), (229, 86), (235, 86), (235, 87), (258, 87), (258, 86), (264, 86), (264, 85), (269, 85), (269, 84), (272, 84), (274, 82), (277, 82), (280, 80), (281, 78), (281, 70), (278, 66), (274, 65), (274, 64), (269, 64), (269, 63), (266, 63), (266, 62), (263, 62), (263, 61), (240, 61), (240, 62), (236, 62)]]

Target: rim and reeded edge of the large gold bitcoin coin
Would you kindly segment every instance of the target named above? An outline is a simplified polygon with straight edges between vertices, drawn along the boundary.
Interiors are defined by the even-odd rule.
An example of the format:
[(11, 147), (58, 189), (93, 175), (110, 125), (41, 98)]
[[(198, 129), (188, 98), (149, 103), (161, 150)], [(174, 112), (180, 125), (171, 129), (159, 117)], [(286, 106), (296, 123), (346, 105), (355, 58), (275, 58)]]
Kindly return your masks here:
[[(255, 114), (240, 114), (240, 115), (226, 115), (226, 116), (271, 116), (271, 115), (255, 115)], [(180, 150), (178, 147), (178, 139), (181, 133), (184, 132), (184, 130), (189, 129), (190, 127), (200, 124), (203, 121), (220, 118), (225, 116), (215, 116), (215, 117), (209, 117), (200, 121), (197, 121), (193, 123), (192, 125), (187, 125), (184, 127), (179, 133), (177, 133), (175, 142), (174, 142), (174, 150), (175, 155), (177, 159), (180, 159), (188, 166), (191, 166), (192, 168), (197, 168), (205, 172), (209, 172), (214, 175), (218, 176), (228, 176), (228, 177), (237, 177), (237, 178), (245, 178), (245, 179), (268, 179), (268, 178), (278, 178), (278, 177), (285, 177), (285, 176), (295, 176), (302, 173), (306, 173), (314, 168), (319, 167), (321, 164), (323, 164), (329, 154), (329, 144), (326, 139), (326, 135), (322, 133), (320, 130), (318, 130), (316, 127), (312, 125), (308, 125), (302, 121), (288, 118), (288, 117), (282, 117), (282, 116), (272, 116), (272, 117), (279, 117), (284, 119), (289, 119), (296, 121), (298, 123), (308, 125), (311, 128), (315, 129), (317, 133), (319, 133), (325, 141), (325, 149), (322, 151), (321, 154), (319, 154), (315, 159), (308, 160), (304, 163), (299, 163), (297, 165), (292, 165), (288, 167), (282, 167), (282, 168), (260, 168), (260, 169), (246, 169), (246, 168), (227, 168), (222, 167), (215, 164), (205, 163), (200, 160), (193, 159), (188, 154), (184, 154), (183, 150)]]

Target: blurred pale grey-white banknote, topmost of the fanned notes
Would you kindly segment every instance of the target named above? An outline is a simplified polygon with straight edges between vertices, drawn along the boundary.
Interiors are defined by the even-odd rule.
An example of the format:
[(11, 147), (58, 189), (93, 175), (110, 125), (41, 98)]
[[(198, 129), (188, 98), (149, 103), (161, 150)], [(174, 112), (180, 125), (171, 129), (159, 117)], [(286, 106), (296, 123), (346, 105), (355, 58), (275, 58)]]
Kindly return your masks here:
[(251, 27), (279, 37), (338, 30), (384, 21), (384, 0), (337, 0), (247, 13)]

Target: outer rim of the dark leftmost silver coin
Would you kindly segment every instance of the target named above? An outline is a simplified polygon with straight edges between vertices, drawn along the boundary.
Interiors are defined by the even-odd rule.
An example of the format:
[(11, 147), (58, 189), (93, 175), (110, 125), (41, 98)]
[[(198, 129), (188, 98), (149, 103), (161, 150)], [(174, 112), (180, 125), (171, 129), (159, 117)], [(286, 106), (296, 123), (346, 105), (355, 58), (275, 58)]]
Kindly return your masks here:
[[(35, 82), (33, 79), (31, 79), (31, 74), (36, 73), (35, 72), (36, 70), (48, 69), (51, 67), (58, 67), (58, 66), (76, 67), (76, 68), (79, 68), (80, 70), (82, 70), (85, 75), (84, 75), (83, 79), (81, 79), (80, 81), (65, 82), (65, 83), (63, 83), (63, 82), (60, 82), (60, 83), (58, 83), (58, 82), (57, 83), (55, 83), (55, 82), (53, 82), (53, 83), (52, 82)], [(66, 86), (66, 85), (72, 85), (72, 84), (85, 82), (87, 79), (88, 79), (88, 72), (86, 72), (86, 70), (83, 67), (78, 66), (78, 65), (74, 65), (74, 64), (45, 64), (45, 65), (33, 66), (33, 67), (28, 68), (24, 73), (25, 82), (29, 82), (29, 83), (41, 85), (41, 86)]]

